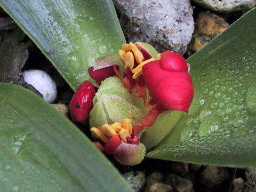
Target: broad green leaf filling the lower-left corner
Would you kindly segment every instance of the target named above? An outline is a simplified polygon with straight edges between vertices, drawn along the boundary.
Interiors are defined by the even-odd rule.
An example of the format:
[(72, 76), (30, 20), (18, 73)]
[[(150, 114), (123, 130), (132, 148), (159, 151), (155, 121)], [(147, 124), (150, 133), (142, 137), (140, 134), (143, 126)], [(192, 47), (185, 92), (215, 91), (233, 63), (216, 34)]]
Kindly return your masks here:
[(65, 116), (0, 83), (0, 191), (133, 191)]

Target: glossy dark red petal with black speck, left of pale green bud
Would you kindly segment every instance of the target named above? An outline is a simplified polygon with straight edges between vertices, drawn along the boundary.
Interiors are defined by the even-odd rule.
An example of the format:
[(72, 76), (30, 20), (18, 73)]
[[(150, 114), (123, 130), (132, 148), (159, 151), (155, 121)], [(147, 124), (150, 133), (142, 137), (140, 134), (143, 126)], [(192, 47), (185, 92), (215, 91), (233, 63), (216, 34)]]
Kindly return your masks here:
[(94, 86), (90, 81), (85, 81), (77, 87), (77, 91), (69, 103), (69, 112), (74, 121), (86, 123), (93, 107), (92, 99), (94, 95)]

